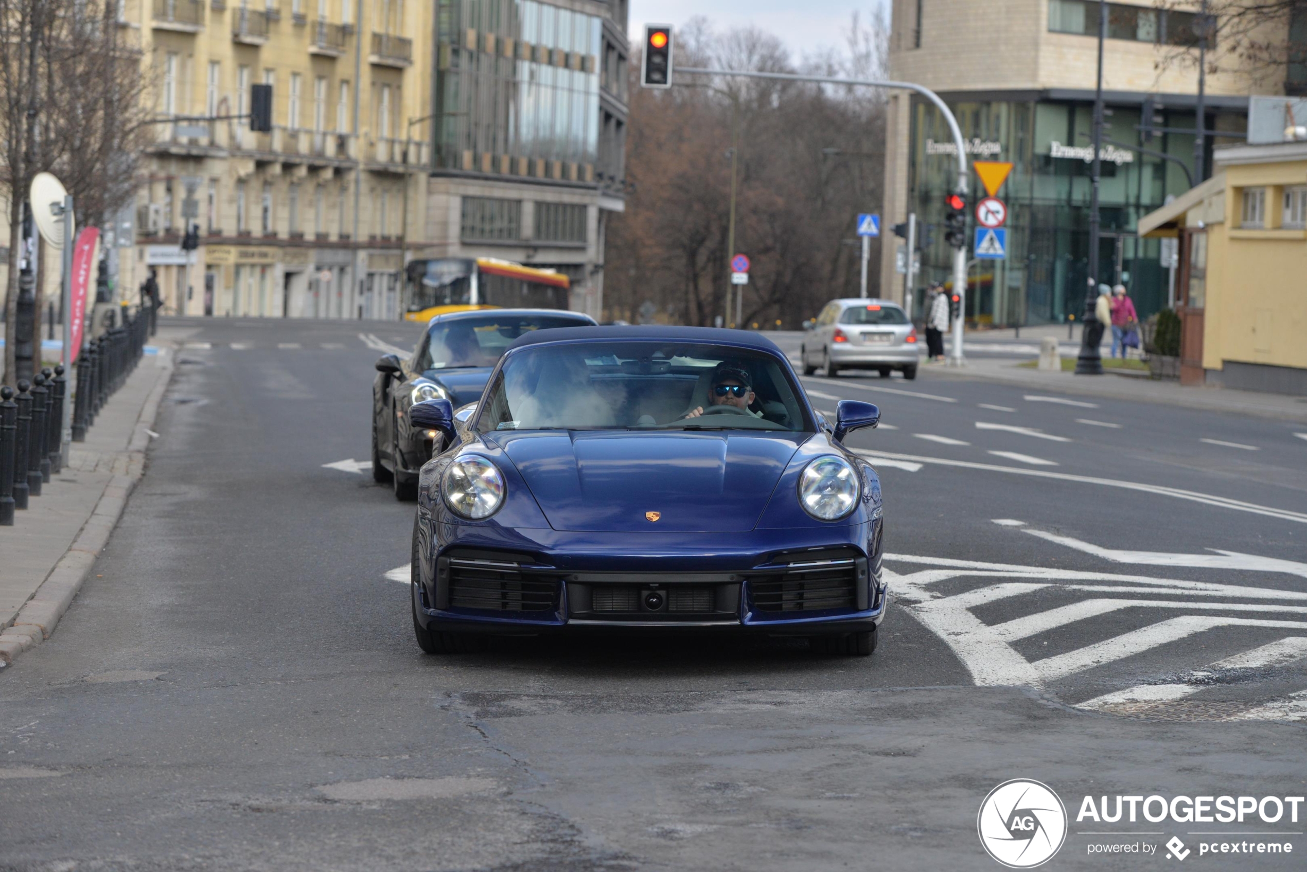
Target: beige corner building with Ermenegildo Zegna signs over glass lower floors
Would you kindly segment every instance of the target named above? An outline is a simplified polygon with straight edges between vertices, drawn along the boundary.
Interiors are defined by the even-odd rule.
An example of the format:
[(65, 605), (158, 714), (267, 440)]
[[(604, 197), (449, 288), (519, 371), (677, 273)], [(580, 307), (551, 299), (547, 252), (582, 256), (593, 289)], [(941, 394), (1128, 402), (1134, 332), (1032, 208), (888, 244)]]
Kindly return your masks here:
[[(1167, 4), (1168, 7), (1174, 4)], [(1193, 9), (1197, 4), (1191, 4)], [(1059, 323), (1084, 307), (1090, 258), (1097, 273), (1131, 288), (1141, 315), (1174, 301), (1174, 247), (1140, 239), (1141, 216), (1189, 187), (1193, 170), (1197, 50), (1193, 12), (1148, 0), (1110, 3), (1103, 89), (1108, 115), (1100, 153), (1099, 251), (1089, 252), (1090, 161), (1098, 51), (1097, 0), (894, 0), (890, 77), (941, 94), (962, 127), (968, 159), (1009, 161), (999, 192), (1008, 205), (1001, 260), (976, 263), (968, 276), (967, 318), (975, 323)], [(1219, 8), (1219, 4), (1213, 4)], [(1286, 22), (1287, 24), (1287, 22)], [(1304, 22), (1307, 24), (1307, 22)], [(1205, 127), (1229, 132), (1213, 146), (1242, 141), (1249, 94), (1307, 85), (1303, 71), (1252, 73), (1222, 55), (1208, 75)], [(957, 149), (942, 116), (921, 98), (890, 98), (884, 224), (910, 212), (923, 224), (921, 273), (951, 286), (944, 242), (944, 197), (957, 173)], [(1149, 129), (1140, 129), (1141, 127)], [(1174, 159), (1158, 157), (1157, 152)], [(1193, 179), (1199, 182), (1200, 179)], [(968, 212), (984, 191), (972, 174)], [(968, 251), (975, 220), (968, 214)], [(903, 295), (890, 237), (881, 286)], [(915, 294), (920, 306), (921, 294)]]

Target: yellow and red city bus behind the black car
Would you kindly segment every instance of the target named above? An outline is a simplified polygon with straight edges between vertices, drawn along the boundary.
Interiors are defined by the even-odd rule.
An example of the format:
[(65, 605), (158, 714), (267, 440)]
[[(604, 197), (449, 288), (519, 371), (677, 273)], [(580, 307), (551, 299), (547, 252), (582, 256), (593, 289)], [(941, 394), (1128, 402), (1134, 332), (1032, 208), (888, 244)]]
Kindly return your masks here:
[(571, 281), (553, 269), (495, 258), (431, 258), (404, 271), (406, 320), (476, 309), (567, 309)]

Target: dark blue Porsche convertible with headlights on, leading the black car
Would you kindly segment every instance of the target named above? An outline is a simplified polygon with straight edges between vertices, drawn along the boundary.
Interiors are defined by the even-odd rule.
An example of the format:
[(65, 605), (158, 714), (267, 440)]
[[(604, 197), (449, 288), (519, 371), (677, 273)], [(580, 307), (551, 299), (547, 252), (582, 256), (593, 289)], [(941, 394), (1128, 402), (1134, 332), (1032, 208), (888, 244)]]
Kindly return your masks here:
[(541, 329), (481, 400), (417, 403), (413, 628), (427, 654), (586, 628), (809, 637), (867, 655), (885, 616), (881, 486), (786, 356), (742, 331)]

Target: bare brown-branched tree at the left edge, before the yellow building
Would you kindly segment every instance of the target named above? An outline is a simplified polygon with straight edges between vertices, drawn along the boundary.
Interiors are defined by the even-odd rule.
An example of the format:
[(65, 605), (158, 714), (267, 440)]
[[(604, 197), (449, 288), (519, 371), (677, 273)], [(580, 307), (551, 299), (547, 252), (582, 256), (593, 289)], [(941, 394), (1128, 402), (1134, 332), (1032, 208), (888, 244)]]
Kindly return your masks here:
[[(56, 174), (77, 225), (102, 225), (136, 188), (148, 81), (119, 41), (114, 0), (0, 0), (0, 186), (9, 199), (5, 379), (13, 373), (22, 204)], [(42, 310), (37, 289), (38, 319)], [(39, 331), (39, 320), (38, 320)]]

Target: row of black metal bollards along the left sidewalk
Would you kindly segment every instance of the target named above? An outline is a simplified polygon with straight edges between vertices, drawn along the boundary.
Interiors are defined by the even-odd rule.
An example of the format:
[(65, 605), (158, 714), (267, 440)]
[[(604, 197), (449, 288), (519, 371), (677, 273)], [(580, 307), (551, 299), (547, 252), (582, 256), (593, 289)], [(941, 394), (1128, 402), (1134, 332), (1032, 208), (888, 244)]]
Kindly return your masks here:
[[(86, 430), (108, 397), (123, 386), (145, 353), (150, 311), (123, 310), (123, 323), (91, 340), (73, 365), (72, 439)], [(17, 391), (0, 387), (0, 527), (13, 524), (14, 510), (26, 509), (63, 463), (63, 408), (68, 392), (63, 366), (41, 370)]]

